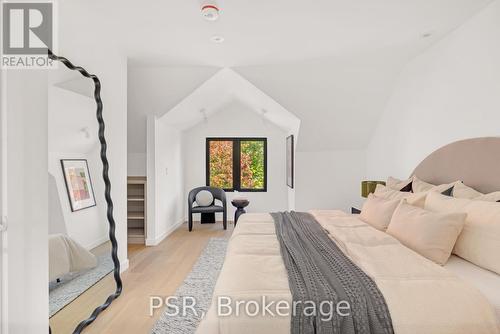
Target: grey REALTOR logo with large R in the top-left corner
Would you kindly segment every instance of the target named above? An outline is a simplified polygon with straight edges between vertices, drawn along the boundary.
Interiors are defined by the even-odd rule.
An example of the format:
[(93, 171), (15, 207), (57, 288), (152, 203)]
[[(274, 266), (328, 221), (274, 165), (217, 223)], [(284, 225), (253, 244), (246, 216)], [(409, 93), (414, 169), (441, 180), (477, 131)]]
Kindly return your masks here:
[(48, 68), (54, 49), (52, 2), (5, 2), (2, 23), (2, 67)]

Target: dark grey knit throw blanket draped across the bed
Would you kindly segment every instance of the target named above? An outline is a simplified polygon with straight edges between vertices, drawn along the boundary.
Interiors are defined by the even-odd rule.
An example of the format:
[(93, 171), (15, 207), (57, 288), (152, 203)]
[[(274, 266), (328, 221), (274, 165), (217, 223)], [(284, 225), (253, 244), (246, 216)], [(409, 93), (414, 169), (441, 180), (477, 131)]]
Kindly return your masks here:
[(339, 249), (311, 214), (271, 215), (294, 302), (291, 334), (394, 333), (389, 309), (375, 282)]

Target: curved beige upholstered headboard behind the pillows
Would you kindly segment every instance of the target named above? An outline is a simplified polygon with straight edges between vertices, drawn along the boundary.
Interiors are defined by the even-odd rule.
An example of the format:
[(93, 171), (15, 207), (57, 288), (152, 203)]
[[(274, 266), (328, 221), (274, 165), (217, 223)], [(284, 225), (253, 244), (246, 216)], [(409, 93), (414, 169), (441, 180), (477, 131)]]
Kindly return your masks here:
[(461, 180), (483, 193), (500, 191), (500, 137), (446, 145), (425, 158), (413, 174), (432, 184)]

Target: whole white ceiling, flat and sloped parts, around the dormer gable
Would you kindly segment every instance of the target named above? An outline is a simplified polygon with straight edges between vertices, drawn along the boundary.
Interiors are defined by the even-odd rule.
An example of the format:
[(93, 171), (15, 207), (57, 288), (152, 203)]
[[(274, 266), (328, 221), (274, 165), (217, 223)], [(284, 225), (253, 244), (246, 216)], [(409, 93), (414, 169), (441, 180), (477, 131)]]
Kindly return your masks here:
[(365, 147), (402, 67), (490, 2), (217, 0), (216, 22), (199, 0), (72, 0), (60, 12), (65, 35), (100, 34), (129, 58), (129, 151), (145, 152), (146, 115), (222, 67), (298, 116), (306, 151)]

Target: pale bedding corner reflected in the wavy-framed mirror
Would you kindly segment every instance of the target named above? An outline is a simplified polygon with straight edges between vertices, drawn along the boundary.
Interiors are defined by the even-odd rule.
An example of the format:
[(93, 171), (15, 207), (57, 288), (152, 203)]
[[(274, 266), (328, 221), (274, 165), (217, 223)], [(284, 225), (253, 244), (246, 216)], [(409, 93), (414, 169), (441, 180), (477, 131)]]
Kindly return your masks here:
[(49, 235), (49, 281), (97, 266), (97, 257), (63, 234)]

